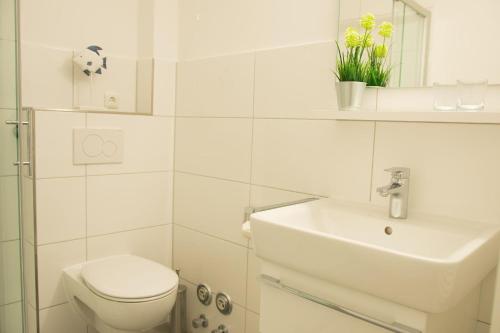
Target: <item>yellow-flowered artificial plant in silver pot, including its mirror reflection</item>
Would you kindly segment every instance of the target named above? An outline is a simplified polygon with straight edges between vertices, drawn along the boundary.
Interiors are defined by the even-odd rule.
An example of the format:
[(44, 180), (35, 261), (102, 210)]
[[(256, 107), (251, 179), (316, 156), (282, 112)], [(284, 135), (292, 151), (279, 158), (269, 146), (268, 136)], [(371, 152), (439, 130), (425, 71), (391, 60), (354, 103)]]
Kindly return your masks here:
[[(390, 77), (390, 69), (386, 68), (387, 56), (386, 38), (392, 34), (392, 24), (383, 22), (379, 34), (384, 38), (383, 44), (375, 45), (372, 30), (375, 27), (373, 14), (363, 15), (359, 33), (349, 27), (344, 33), (345, 50), (342, 51), (337, 42), (337, 68), (335, 75), (338, 82), (337, 102), (340, 110), (356, 111), (361, 108), (365, 88), (370, 86), (385, 86)], [(384, 84), (384, 85), (381, 85)]]

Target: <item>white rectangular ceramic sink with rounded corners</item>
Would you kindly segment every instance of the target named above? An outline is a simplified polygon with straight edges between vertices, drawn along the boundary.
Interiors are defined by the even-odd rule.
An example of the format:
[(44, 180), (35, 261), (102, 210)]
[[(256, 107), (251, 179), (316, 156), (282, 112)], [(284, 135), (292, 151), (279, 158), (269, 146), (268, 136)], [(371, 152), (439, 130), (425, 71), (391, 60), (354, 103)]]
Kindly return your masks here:
[(251, 224), (263, 260), (427, 313), (452, 308), (477, 287), (500, 248), (491, 224), (393, 220), (387, 209), (330, 199), (255, 213)]

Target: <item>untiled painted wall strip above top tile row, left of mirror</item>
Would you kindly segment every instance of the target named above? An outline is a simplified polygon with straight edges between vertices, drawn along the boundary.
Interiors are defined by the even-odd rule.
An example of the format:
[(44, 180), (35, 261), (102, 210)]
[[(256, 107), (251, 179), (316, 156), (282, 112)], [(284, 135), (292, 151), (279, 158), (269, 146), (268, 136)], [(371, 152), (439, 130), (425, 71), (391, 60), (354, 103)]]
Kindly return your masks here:
[(179, 3), (179, 13), (183, 60), (332, 41), (337, 36), (336, 1), (187, 0)]

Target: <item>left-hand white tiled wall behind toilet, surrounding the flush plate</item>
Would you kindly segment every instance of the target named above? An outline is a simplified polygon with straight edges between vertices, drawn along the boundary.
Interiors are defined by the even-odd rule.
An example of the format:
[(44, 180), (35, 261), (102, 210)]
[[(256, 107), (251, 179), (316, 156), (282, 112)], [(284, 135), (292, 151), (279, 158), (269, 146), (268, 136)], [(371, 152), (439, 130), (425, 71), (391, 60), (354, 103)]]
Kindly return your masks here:
[[(49, 109), (73, 106), (73, 49), (98, 44), (117, 59), (135, 58), (136, 4), (135, 0), (22, 1), (23, 104)], [(171, 266), (177, 39), (172, 38), (176, 29), (164, 21), (177, 15), (177, 5), (174, 0), (151, 4), (155, 14), (153, 27), (148, 27), (153, 31), (148, 43), (154, 44), (149, 56), (155, 58), (152, 115), (36, 111), (36, 234), (30, 241), (36, 239), (39, 302), (34, 301), (34, 286), (28, 286), (28, 298), (33, 300), (28, 311), (30, 333), (35, 332), (34, 313), (39, 314), (40, 333), (87, 333), (64, 295), (61, 269), (66, 266), (122, 253)], [(123, 163), (74, 165), (74, 128), (122, 129)], [(34, 253), (30, 258), (35, 260)]]

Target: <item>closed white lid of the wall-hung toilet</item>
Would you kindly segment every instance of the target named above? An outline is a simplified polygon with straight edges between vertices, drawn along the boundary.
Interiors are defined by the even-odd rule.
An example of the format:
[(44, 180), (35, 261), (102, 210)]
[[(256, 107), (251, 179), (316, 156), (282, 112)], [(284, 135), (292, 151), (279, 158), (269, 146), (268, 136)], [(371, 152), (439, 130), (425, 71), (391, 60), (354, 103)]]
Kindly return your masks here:
[(85, 264), (81, 276), (94, 292), (114, 299), (145, 299), (168, 294), (179, 278), (171, 269), (133, 255)]

